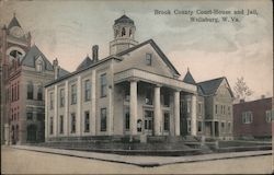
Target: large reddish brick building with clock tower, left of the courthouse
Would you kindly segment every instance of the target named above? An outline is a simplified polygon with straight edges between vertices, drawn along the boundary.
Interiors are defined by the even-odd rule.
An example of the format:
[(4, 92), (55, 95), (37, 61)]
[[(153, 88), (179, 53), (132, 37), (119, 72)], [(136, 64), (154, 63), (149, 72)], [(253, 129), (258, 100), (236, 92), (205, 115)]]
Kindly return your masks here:
[(44, 85), (67, 73), (31, 45), (15, 14), (1, 30), (1, 142), (44, 141)]

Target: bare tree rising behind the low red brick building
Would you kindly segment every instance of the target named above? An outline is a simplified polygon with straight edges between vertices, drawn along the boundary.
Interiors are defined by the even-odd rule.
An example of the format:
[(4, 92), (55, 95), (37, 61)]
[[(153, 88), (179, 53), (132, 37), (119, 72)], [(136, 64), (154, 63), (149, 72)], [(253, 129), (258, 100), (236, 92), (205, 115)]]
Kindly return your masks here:
[(249, 89), (243, 80), (243, 77), (237, 78), (237, 82), (233, 86), (236, 100), (246, 100), (246, 97), (253, 94), (253, 91)]

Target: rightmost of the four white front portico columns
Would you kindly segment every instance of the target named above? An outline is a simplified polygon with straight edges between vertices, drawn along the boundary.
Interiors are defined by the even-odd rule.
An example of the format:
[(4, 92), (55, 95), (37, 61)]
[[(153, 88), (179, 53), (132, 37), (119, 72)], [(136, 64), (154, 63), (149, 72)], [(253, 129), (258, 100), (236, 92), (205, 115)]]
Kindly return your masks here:
[(192, 109), (191, 109), (191, 135), (197, 136), (197, 112), (196, 112), (196, 105), (197, 100), (196, 95), (192, 95)]

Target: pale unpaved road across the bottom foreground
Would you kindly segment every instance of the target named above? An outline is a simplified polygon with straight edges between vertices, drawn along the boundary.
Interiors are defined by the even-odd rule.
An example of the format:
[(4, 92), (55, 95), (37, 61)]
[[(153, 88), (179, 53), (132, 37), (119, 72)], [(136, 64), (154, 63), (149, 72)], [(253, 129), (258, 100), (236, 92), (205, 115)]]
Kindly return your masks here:
[(1, 148), (1, 174), (270, 174), (272, 155), (139, 167), (90, 159)]

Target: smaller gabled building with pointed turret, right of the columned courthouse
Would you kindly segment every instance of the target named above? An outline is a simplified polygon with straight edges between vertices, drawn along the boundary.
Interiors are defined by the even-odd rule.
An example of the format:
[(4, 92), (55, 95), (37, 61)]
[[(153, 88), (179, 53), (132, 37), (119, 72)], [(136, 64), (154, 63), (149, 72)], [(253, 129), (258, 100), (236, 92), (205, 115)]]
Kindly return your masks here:
[[(196, 83), (187, 70), (183, 82), (197, 86), (197, 101), (193, 104), (191, 96), (181, 96), (182, 135), (196, 132), (194, 136), (231, 140), (233, 138), (233, 93), (227, 79), (221, 77)], [(196, 106), (196, 114), (192, 114), (192, 105)], [(192, 117), (194, 115), (195, 118)], [(196, 124), (193, 125), (193, 122)], [(192, 131), (193, 129), (195, 132)]]

